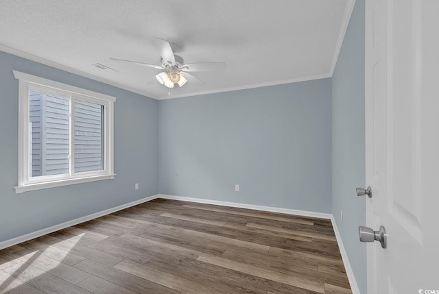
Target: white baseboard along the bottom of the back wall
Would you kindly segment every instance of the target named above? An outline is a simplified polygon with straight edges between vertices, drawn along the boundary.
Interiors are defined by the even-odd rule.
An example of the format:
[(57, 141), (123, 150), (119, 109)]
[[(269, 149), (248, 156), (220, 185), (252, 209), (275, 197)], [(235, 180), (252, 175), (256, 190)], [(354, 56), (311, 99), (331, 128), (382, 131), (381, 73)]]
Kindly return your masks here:
[(217, 201), (217, 200), (211, 200), (211, 199), (200, 199), (200, 198), (191, 198), (191, 197), (182, 197), (182, 196), (174, 196), (174, 195), (164, 195), (164, 194), (158, 194), (157, 198), (189, 201), (189, 202), (198, 202), (198, 203), (202, 203), (202, 204), (213, 204), (213, 205), (229, 206), (229, 207), (236, 207), (236, 208), (263, 210), (263, 211), (270, 211), (270, 212), (280, 212), (280, 213), (285, 213), (287, 215), (301, 215), (303, 217), (318, 217), (320, 219), (331, 219), (332, 218), (331, 213), (313, 212), (313, 211), (306, 211), (306, 210), (295, 210), (295, 209), (287, 209), (287, 208), (277, 208), (277, 207), (271, 207), (271, 206), (259, 206), (259, 205), (252, 205), (252, 204), (242, 204), (242, 203), (237, 203), (237, 202)]

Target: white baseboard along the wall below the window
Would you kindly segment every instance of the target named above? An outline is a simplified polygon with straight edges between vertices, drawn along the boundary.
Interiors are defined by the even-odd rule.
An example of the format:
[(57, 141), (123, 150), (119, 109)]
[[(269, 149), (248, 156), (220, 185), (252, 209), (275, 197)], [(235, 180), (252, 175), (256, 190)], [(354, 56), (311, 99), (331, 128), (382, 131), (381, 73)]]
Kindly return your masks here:
[(36, 232), (25, 234), (23, 236), (18, 236), (16, 238), (12, 238), (12, 239), (9, 239), (9, 240), (6, 240), (6, 241), (2, 241), (2, 242), (0, 242), (0, 250), (4, 249), (6, 247), (10, 247), (10, 246), (13, 246), (13, 245), (25, 242), (25, 241), (32, 240), (34, 238), (38, 238), (40, 236), (44, 236), (46, 234), (50, 234), (50, 233), (56, 232), (58, 230), (69, 228), (72, 225), (78, 225), (79, 223), (84, 223), (85, 221), (91, 221), (92, 219), (97, 219), (98, 217), (103, 217), (104, 215), (109, 215), (112, 212), (117, 212), (119, 210), (123, 210), (125, 208), (129, 208), (131, 206), (136, 206), (138, 204), (142, 204), (144, 202), (151, 201), (151, 200), (154, 200), (156, 198), (158, 198), (158, 195), (153, 195), (153, 196), (150, 196), (150, 197), (145, 197), (143, 199), (132, 201), (132, 202), (127, 203), (127, 204), (122, 204), (121, 206), (117, 206), (117, 207), (114, 207), (114, 208), (109, 208), (107, 210), (102, 210), (102, 211), (93, 213), (92, 215), (86, 215), (85, 217), (80, 217), (79, 219), (73, 219), (72, 221), (66, 221), (65, 223), (60, 223), (58, 225), (53, 225), (53, 226), (51, 226), (49, 228), (38, 230)]

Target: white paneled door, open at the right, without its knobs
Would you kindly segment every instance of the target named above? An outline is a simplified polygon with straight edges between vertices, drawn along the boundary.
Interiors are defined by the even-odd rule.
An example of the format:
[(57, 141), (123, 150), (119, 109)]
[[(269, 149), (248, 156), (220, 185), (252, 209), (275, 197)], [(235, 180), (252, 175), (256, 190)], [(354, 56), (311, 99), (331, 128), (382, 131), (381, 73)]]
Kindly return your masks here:
[(368, 293), (439, 293), (439, 1), (366, 0)]

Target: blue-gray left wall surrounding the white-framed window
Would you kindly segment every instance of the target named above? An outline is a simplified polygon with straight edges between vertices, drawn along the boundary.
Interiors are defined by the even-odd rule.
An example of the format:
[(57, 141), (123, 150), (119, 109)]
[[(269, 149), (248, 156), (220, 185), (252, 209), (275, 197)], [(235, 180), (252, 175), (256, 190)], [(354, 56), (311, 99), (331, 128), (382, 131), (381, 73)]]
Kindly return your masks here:
[[(117, 97), (115, 180), (14, 193), (19, 103), (13, 69)], [(158, 193), (158, 101), (1, 51), (0, 89), (0, 242)]]

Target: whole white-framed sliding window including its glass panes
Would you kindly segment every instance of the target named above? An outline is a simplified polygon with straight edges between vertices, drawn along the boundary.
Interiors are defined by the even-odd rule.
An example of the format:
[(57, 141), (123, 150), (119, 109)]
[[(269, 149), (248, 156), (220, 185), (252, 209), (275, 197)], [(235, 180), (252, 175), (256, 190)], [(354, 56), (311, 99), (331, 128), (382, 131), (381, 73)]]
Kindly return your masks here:
[(115, 97), (13, 71), (19, 79), (16, 193), (115, 177)]

